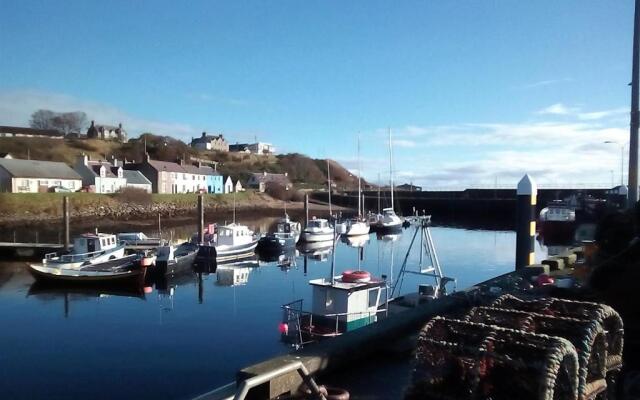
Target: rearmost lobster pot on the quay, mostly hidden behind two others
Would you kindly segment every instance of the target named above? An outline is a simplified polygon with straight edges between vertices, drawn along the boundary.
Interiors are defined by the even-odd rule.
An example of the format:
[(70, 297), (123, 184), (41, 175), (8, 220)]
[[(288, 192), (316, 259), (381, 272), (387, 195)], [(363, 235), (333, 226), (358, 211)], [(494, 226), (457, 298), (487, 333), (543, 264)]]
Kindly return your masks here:
[(624, 345), (624, 326), (622, 318), (611, 307), (605, 304), (591, 303), (547, 297), (534, 300), (523, 300), (513, 295), (503, 295), (496, 299), (493, 307), (507, 308), (538, 314), (595, 320), (603, 328), (607, 342), (607, 371), (617, 371), (622, 367), (622, 350)]

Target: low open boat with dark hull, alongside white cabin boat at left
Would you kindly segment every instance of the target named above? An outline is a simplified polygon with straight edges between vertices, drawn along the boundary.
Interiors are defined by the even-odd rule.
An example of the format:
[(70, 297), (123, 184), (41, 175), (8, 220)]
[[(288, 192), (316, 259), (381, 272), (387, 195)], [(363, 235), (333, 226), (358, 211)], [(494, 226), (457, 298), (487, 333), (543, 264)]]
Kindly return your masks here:
[(84, 284), (134, 284), (144, 280), (143, 256), (132, 254), (82, 266), (30, 264), (29, 272), (38, 281)]

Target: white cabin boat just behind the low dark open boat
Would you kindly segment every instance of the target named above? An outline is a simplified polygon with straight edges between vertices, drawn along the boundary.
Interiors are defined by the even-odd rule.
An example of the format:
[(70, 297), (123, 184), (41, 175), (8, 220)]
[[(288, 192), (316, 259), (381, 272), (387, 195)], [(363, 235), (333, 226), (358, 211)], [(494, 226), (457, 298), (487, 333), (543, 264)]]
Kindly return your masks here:
[(107, 233), (85, 233), (73, 240), (73, 250), (69, 254), (49, 253), (42, 260), (48, 268), (77, 269), (91, 264), (117, 260), (124, 257), (124, 242)]

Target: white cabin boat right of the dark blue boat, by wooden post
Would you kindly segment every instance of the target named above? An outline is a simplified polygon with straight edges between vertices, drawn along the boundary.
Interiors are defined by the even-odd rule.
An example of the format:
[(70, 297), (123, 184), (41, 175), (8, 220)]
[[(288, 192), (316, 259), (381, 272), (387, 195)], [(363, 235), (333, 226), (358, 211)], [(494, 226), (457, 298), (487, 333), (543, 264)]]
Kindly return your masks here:
[(209, 225), (204, 234), (204, 245), (216, 249), (216, 261), (237, 260), (255, 254), (258, 237), (246, 225)]

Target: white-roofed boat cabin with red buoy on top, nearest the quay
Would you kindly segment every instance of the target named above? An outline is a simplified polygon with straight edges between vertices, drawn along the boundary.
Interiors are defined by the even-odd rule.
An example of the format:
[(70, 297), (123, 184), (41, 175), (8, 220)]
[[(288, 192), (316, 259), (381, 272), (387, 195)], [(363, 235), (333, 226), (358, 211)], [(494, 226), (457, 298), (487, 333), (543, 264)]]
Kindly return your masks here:
[(324, 278), (309, 281), (313, 292), (313, 324), (325, 325), (336, 334), (376, 322), (380, 305), (386, 301), (385, 281), (352, 282), (345, 279), (345, 274), (335, 277), (333, 283)]

